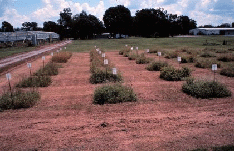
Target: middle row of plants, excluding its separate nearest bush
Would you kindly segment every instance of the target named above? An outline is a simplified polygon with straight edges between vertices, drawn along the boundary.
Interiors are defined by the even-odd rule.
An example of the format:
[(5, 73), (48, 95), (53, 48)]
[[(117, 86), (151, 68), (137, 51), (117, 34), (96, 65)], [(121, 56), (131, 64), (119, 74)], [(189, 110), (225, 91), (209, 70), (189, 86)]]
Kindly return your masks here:
[(122, 80), (120, 72), (113, 74), (113, 65), (110, 64), (109, 60), (108, 64), (104, 65), (104, 57), (102, 57), (102, 53), (104, 52), (101, 51), (101, 53), (99, 53), (99, 51), (96, 50), (90, 51), (90, 83), (97, 84), (103, 82), (120, 82)]

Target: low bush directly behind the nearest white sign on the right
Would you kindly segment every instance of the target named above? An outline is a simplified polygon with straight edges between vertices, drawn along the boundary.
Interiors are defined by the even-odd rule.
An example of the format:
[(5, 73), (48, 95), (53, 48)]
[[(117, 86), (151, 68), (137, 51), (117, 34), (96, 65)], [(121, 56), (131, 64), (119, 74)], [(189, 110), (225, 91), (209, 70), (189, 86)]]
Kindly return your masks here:
[(221, 64), (217, 60), (213, 60), (213, 59), (199, 59), (195, 63), (195, 67), (197, 67), (197, 68), (211, 68), (212, 64), (217, 64), (218, 68), (221, 67)]

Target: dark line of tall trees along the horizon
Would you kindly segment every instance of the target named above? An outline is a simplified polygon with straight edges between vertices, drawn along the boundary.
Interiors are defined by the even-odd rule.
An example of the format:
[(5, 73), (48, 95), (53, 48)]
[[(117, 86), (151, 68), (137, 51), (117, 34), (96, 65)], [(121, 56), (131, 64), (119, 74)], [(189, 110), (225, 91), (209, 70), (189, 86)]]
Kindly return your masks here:
[[(24, 22), (24, 30), (43, 30), (60, 34), (61, 39), (92, 39), (101, 33), (124, 34), (140, 37), (169, 37), (179, 34), (189, 34), (189, 30), (196, 28), (195, 20), (188, 16), (168, 14), (163, 8), (146, 8), (136, 11), (135, 16), (123, 5), (110, 7), (105, 11), (103, 22), (96, 16), (82, 11), (72, 15), (70, 8), (60, 12), (57, 23), (46, 21), (43, 28), (37, 27), (36, 22)], [(13, 26), (4, 21), (1, 31), (13, 31)]]

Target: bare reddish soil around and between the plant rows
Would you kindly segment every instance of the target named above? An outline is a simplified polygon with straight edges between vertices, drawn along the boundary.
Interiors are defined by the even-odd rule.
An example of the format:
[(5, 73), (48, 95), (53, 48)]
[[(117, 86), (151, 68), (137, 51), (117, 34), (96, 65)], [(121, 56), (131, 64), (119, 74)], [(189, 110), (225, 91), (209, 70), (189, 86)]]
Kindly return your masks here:
[[(93, 105), (94, 89), (100, 85), (89, 83), (89, 54), (73, 53), (52, 85), (38, 89), (37, 105), (0, 113), (0, 150), (188, 150), (234, 143), (233, 96), (196, 99), (182, 92), (183, 82), (161, 80), (159, 72), (147, 71), (146, 65), (118, 52), (107, 56), (124, 83), (134, 88), (137, 102)], [(32, 65), (37, 70), (41, 58)], [(188, 66), (195, 77), (213, 76), (208, 69)], [(26, 65), (11, 73), (12, 83), (29, 74)], [(217, 79), (234, 94), (233, 78)], [(7, 88), (5, 75), (0, 87)]]

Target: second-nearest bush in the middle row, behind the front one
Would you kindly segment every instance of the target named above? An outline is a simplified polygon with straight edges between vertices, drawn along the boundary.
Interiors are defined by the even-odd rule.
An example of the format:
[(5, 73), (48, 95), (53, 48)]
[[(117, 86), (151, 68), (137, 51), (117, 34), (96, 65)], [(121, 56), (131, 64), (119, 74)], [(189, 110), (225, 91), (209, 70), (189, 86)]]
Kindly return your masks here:
[(110, 70), (108, 70), (106, 73), (106, 70), (97, 68), (91, 74), (89, 79), (90, 83), (92, 84), (103, 83), (106, 82), (106, 80), (108, 80), (109, 82), (120, 82), (122, 80), (122, 76), (120, 73), (114, 75)]

